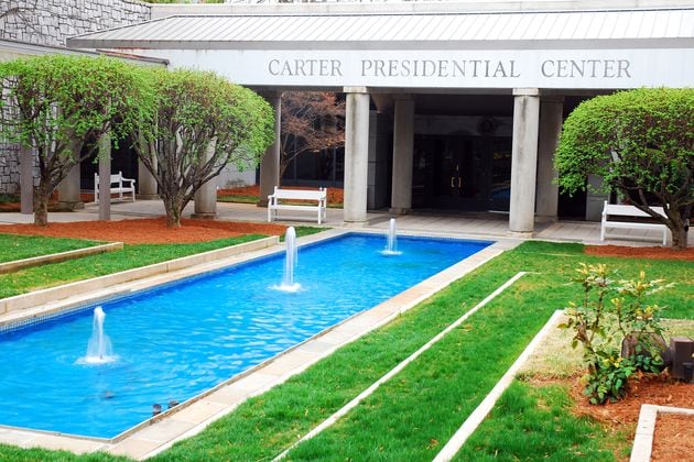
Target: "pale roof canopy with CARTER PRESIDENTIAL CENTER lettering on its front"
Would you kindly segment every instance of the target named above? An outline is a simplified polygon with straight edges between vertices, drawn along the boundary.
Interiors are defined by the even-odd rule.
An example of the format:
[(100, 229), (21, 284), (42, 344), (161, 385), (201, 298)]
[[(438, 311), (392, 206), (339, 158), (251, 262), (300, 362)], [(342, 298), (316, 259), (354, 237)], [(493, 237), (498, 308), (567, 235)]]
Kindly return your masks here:
[(68, 40), (273, 88), (619, 89), (694, 84), (694, 8), (175, 15)]

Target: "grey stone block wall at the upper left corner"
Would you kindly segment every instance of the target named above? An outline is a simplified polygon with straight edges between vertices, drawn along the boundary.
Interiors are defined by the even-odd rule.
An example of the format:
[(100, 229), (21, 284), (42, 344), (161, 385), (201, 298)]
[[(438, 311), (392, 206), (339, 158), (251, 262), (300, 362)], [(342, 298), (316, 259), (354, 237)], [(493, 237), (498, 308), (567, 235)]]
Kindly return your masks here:
[[(150, 18), (151, 6), (134, 0), (1, 0), (0, 40), (65, 46), (67, 37)], [(0, 143), (0, 194), (19, 193), (19, 146)]]

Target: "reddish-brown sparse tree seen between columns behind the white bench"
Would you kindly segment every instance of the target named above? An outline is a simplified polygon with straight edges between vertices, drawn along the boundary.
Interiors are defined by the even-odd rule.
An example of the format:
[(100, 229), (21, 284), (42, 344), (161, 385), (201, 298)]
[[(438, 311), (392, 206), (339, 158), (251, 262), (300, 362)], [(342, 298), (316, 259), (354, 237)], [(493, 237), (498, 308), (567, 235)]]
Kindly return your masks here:
[(286, 91), (282, 95), (280, 178), (303, 153), (321, 153), (345, 145), (345, 102), (327, 91)]

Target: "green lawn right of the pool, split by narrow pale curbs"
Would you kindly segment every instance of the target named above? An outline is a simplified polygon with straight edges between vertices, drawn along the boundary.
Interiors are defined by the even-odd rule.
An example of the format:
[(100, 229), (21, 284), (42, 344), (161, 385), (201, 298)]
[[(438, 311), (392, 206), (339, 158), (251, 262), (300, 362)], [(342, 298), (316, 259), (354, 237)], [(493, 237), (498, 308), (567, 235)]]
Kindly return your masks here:
[[(531, 272), (335, 426), (299, 446), (289, 459), (429, 461), (550, 315), (565, 307), (568, 300), (578, 298), (579, 287), (567, 284), (578, 262), (608, 263), (625, 278), (636, 277), (644, 270), (649, 278), (675, 282), (672, 290), (657, 294), (653, 301), (670, 305), (665, 312), (668, 317), (694, 318), (694, 302), (691, 301), (694, 300), (694, 265), (691, 262), (601, 258), (583, 254), (583, 246), (578, 244), (527, 242), (285, 384), (249, 399), (200, 435), (175, 444), (155, 459), (269, 460), (517, 272)], [(513, 389), (519, 386), (514, 385)], [(525, 394), (522, 388), (510, 393)], [(587, 460), (612, 459), (606, 451), (609, 448), (607, 430), (589, 421), (574, 421), (576, 419), (566, 411), (567, 402), (559, 399), (560, 392), (539, 393), (539, 397), (528, 398), (528, 406), (532, 405), (532, 399), (551, 402), (549, 409), (544, 409), (543, 404), (541, 410), (556, 413), (557, 424), (551, 428), (565, 430), (561, 431), (559, 440), (547, 441), (544, 447), (536, 446), (533, 439), (538, 435), (546, 437), (546, 427), (542, 427), (546, 416), (530, 414), (529, 421), (539, 430), (513, 427), (514, 442), (509, 443), (508, 451), (502, 454), (505, 460), (539, 459), (547, 451), (565, 455), (563, 460), (586, 460), (579, 453), (589, 454)], [(489, 432), (495, 435), (507, 431), (507, 424), (495, 424)], [(0, 460), (10, 459), (4, 451), (0, 449)], [(18, 452), (13, 451), (11, 458), (18, 460)], [(488, 455), (487, 452), (484, 449), (474, 454), (482, 458)], [(490, 453), (494, 455), (495, 451)], [(59, 458), (57, 453), (43, 452), (40, 459)], [(28, 457), (26, 460), (39, 459)]]

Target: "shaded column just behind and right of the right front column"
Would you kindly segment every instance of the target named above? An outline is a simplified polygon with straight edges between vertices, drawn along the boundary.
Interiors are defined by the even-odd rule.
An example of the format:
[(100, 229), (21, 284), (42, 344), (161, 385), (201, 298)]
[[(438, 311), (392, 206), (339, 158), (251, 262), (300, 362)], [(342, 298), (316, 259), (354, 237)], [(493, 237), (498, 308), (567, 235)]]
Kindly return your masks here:
[(536, 215), (541, 221), (556, 221), (559, 186), (554, 152), (562, 132), (563, 111), (563, 97), (543, 97), (540, 101)]

